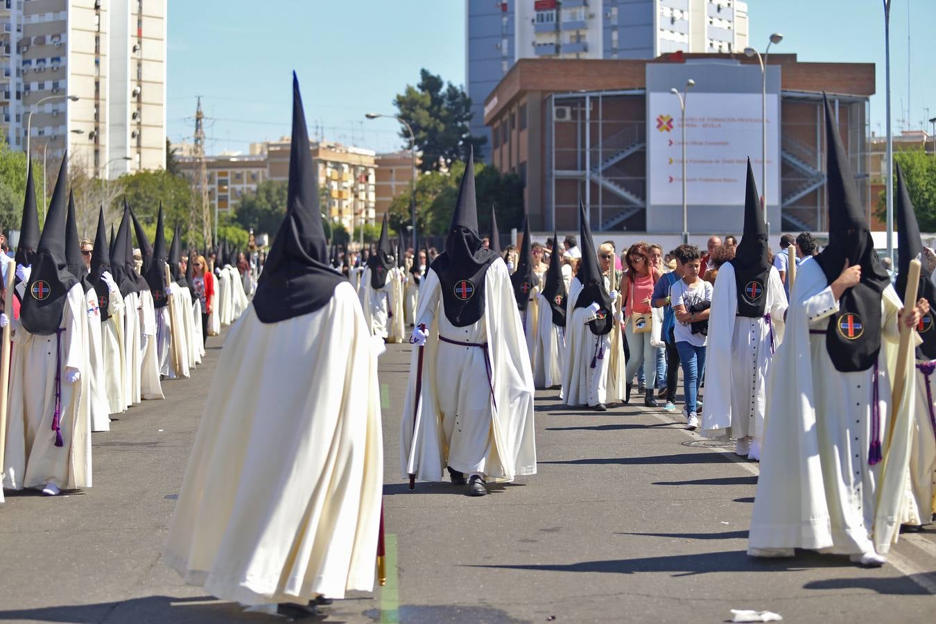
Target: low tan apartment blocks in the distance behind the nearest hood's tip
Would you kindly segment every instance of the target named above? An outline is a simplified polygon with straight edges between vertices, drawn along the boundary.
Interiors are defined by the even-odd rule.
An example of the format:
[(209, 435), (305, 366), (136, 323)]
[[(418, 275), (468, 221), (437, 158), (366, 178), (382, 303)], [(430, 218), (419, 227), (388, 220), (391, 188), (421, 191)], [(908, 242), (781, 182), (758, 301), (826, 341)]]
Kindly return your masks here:
[[(208, 198), (212, 210), (237, 210), (241, 197), (256, 190), (265, 180), (289, 178), (290, 138), (252, 143), (248, 154), (206, 156)], [(351, 231), (361, 219), (373, 224), (376, 218), (376, 153), (334, 142), (311, 141), (309, 149), (322, 190), (323, 210), (329, 219)], [(197, 179), (198, 162), (189, 155), (177, 156), (183, 174)]]

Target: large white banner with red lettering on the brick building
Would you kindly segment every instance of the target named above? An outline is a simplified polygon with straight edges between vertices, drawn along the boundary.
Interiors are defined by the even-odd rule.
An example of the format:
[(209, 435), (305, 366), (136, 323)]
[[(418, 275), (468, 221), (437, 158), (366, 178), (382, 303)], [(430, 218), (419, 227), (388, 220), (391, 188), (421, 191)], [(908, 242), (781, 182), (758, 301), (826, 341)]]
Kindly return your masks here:
[[(780, 197), (779, 97), (768, 94), (768, 204)], [(695, 94), (686, 101), (686, 200), (690, 206), (743, 206), (747, 159), (763, 195), (760, 94)], [(647, 103), (648, 204), (682, 204), (680, 99), (651, 93)]]

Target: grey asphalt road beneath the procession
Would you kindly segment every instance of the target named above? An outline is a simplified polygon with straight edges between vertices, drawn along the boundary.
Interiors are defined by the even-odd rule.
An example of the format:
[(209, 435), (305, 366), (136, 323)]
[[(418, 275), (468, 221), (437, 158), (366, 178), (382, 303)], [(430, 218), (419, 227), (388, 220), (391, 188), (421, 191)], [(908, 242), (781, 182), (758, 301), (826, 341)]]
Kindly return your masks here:
[[(94, 435), (95, 486), (0, 505), (0, 620), (276, 622), (183, 585), (160, 560), (220, 354), (168, 399)], [(559, 409), (539, 393), (539, 473), (475, 499), (399, 476), (409, 347), (380, 364), (387, 457), (388, 585), (336, 602), (326, 622), (724, 622), (729, 610), (793, 622), (932, 621), (936, 526), (901, 537), (890, 563), (745, 555), (757, 466), (628, 407)]]

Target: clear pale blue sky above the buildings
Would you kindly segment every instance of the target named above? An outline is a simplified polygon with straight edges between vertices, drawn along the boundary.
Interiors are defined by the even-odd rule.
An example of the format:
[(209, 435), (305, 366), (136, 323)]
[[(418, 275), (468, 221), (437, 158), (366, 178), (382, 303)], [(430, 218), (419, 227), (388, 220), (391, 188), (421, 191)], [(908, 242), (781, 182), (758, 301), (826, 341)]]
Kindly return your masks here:
[[(490, 0), (472, 0), (490, 2)], [(523, 0), (526, 1), (526, 0)], [(532, 0), (530, 0), (532, 1)], [(907, 108), (911, 17), (911, 125), (936, 117), (936, 7), (893, 0), (892, 106), (895, 133)], [(289, 132), (290, 72), (299, 75), (309, 133), (378, 151), (402, 146), (393, 97), (426, 67), (464, 83), (462, 0), (169, 0), (168, 137), (190, 138), (202, 95), (207, 150), (246, 152)], [(909, 5), (909, 13), (908, 13)], [(749, 0), (752, 45), (800, 61), (876, 63), (870, 130), (884, 133), (884, 10), (881, 0)], [(929, 107), (929, 114), (924, 107)], [(930, 124), (927, 123), (927, 129)]]

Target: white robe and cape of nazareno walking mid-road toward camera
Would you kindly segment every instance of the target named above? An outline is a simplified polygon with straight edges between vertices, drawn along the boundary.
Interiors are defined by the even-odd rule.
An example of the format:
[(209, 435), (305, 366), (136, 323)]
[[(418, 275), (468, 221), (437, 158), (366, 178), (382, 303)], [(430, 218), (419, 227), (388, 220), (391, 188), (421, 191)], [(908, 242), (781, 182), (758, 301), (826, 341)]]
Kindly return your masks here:
[[(446, 466), (483, 473), (495, 482), (536, 472), (533, 371), (504, 261), (494, 260), (484, 280), (484, 313), (469, 327), (451, 327), (435, 271), (428, 270), (422, 280), (416, 320), (431, 325), (427, 323), (429, 338), (423, 347), (417, 414), (417, 348), (403, 402), (403, 478), (412, 473), (420, 481), (442, 481)], [(440, 341), (440, 333), (450, 340), (487, 343), (490, 381), (483, 349)], [(444, 414), (444, 405), (455, 405), (456, 414)]]

